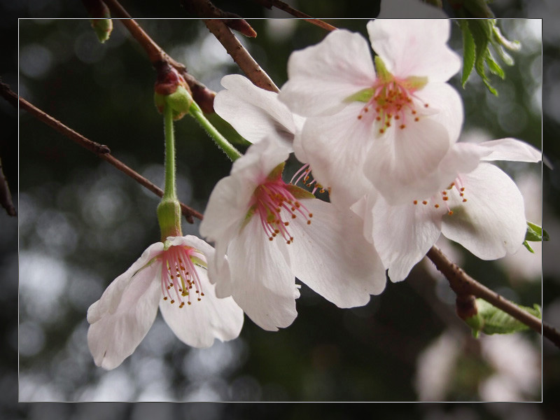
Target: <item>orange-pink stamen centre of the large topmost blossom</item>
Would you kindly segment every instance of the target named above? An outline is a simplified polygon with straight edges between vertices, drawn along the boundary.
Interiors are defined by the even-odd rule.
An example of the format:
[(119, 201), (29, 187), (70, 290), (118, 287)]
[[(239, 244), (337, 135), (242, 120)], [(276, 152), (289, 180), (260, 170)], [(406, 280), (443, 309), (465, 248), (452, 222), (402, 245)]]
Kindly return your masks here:
[(429, 106), (414, 95), (416, 87), (394, 76), (389, 80), (378, 78), (372, 90), (373, 95), (358, 114), (358, 120), (370, 115), (373, 123), (379, 125), (379, 134), (383, 134), (393, 124), (404, 130), (410, 123), (420, 120), (417, 109), (420, 104), (423, 108)]

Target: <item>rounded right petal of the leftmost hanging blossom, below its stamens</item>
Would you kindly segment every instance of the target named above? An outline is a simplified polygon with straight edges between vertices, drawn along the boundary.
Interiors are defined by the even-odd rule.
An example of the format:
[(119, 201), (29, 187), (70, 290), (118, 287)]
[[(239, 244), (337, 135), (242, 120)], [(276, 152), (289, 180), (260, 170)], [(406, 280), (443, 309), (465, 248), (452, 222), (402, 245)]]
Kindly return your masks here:
[[(179, 308), (169, 300), (160, 300), (162, 316), (175, 335), (189, 346), (203, 348), (221, 341), (234, 339), (243, 326), (243, 310), (232, 297), (218, 299), (215, 286), (210, 283), (207, 270), (197, 267), (204, 296), (200, 301), (191, 298), (191, 304)], [(194, 295), (194, 293), (193, 293)]]

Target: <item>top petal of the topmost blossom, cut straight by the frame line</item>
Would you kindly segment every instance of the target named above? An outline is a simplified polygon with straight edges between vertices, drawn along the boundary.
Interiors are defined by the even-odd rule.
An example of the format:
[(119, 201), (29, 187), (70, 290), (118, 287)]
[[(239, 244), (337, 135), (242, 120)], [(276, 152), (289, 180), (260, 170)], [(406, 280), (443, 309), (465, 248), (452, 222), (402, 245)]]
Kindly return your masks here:
[(461, 69), (461, 58), (447, 46), (449, 20), (376, 19), (367, 23), (367, 32), (373, 50), (399, 78), (445, 82)]

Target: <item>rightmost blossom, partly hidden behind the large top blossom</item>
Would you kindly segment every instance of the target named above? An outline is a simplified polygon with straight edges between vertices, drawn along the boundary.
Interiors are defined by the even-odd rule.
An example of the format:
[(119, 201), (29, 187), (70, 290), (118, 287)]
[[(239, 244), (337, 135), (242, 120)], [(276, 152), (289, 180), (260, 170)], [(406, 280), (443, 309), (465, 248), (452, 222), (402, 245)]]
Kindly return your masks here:
[(364, 217), (365, 237), (392, 281), (404, 280), (440, 233), (482, 260), (495, 260), (521, 247), (527, 227), (519, 188), (489, 162), (540, 158), (540, 151), (515, 139), (458, 143), (440, 163), (440, 186), (431, 194), (397, 205), (373, 194), (353, 209)]

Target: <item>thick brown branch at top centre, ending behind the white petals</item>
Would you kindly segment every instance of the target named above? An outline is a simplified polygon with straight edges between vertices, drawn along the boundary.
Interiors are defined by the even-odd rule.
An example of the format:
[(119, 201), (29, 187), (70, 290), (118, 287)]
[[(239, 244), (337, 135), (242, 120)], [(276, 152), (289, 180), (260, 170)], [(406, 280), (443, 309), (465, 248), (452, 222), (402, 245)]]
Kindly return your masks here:
[(224, 22), (217, 19), (204, 19), (204, 23), (255, 86), (271, 92), (280, 91)]

